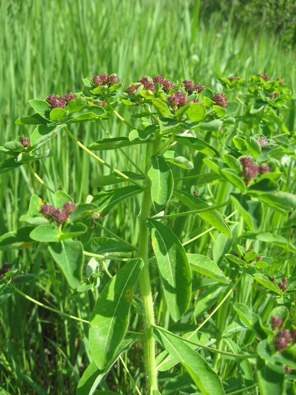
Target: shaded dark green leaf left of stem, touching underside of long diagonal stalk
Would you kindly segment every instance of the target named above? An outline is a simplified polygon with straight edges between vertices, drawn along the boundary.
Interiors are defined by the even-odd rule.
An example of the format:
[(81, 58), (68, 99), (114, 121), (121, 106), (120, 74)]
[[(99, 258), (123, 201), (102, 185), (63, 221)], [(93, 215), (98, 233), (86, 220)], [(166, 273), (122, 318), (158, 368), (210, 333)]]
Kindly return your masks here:
[(141, 194), (143, 189), (131, 185), (129, 187), (123, 188), (116, 188), (111, 189), (109, 191), (102, 191), (96, 194), (93, 199), (92, 203), (94, 203), (98, 207), (98, 214), (106, 213), (120, 201), (132, 197), (137, 194)]

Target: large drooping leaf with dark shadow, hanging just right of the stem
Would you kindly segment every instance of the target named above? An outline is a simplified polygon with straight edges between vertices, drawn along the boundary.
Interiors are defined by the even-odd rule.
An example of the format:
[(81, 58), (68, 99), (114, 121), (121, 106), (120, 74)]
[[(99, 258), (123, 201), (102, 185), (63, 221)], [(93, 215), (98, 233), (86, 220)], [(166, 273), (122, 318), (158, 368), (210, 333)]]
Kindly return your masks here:
[(191, 294), (191, 272), (179, 238), (158, 221), (147, 223), (152, 238), (167, 304), (174, 321), (187, 310)]

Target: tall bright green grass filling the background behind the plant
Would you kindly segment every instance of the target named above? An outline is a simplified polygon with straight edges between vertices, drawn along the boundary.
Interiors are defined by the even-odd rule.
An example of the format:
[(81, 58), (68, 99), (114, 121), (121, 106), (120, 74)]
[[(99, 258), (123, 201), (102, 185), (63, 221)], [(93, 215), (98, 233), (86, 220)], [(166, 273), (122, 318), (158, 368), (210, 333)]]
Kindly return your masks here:
[[(157, 74), (179, 80), (190, 78), (218, 91), (221, 90), (217, 83), (219, 77), (248, 77), (266, 73), (284, 78), (288, 87), (294, 93), (296, 91), (295, 53), (287, 52), (269, 34), (255, 37), (251, 26), (234, 36), (231, 15), (228, 21), (223, 21), (219, 14), (213, 14), (208, 23), (203, 24), (198, 21), (198, 1), (56, 0), (42, 3), (37, 0), (6, 0), (0, 3), (0, 29), (0, 145), (20, 134), (24, 133), (27, 137), (31, 134), (31, 127), (14, 124), (16, 118), (29, 115), (31, 110), (28, 100), (43, 99), (51, 93), (77, 91), (81, 86), (81, 78), (103, 72), (117, 73), (127, 82), (144, 75)], [(128, 118), (126, 108), (119, 108), (118, 111)], [(293, 122), (291, 114), (292, 111), (290, 115), (287, 112), (287, 122), (289, 119)], [(125, 125), (116, 121), (107, 122), (106, 125), (112, 136), (126, 135), (128, 132)], [(73, 131), (84, 145), (106, 137), (98, 124), (76, 126)], [(79, 152), (66, 137), (58, 136), (53, 144), (54, 156), (44, 160), (40, 169), (38, 164), (34, 166), (51, 188), (70, 193), (74, 201), (83, 201), (88, 194), (97, 192), (91, 186), (91, 180), (99, 173), (109, 172)], [(214, 143), (212, 138), (212, 143), (219, 144), (219, 141)], [(126, 152), (137, 163), (141, 163), (143, 152), (140, 148)], [(4, 157), (0, 158), (3, 160)], [(194, 161), (196, 173), (203, 170), (199, 165), (201, 158), (200, 154), (190, 158)], [(132, 170), (120, 153), (104, 153), (104, 159), (116, 163), (119, 169)], [(292, 168), (289, 171), (292, 172)], [(18, 218), (27, 212), (31, 194), (35, 192), (49, 202), (52, 198), (24, 166), (0, 177), (1, 235), (19, 227)], [(186, 183), (188, 188), (192, 185), (190, 181)], [(212, 190), (207, 184), (200, 183), (198, 186), (204, 186), (206, 193), (213, 194), (217, 202), (225, 201), (229, 192), (221, 186), (212, 187)], [(295, 185), (289, 188), (294, 189)], [(119, 236), (136, 243), (138, 212), (137, 200), (128, 200), (106, 217), (104, 226), (115, 229)], [(228, 208), (222, 212), (230, 214)], [(232, 220), (233, 226), (241, 221), (237, 214)], [(278, 229), (284, 221), (282, 216), (266, 212), (264, 228)], [(184, 240), (207, 230), (204, 222), (195, 217), (186, 227), (182, 218), (176, 218), (173, 224), (174, 232), (183, 234)], [(99, 228), (95, 232), (101, 234)], [(281, 234), (288, 238), (294, 237), (289, 228), (286, 234)], [(217, 232), (207, 233), (188, 244), (186, 250), (212, 256), (212, 251), (218, 253), (217, 235)], [(253, 248), (260, 247), (261, 253), (267, 251), (266, 243), (257, 243)], [(276, 265), (279, 268), (288, 272), (292, 270), (295, 258), (288, 260), (288, 254), (278, 247), (273, 246), (270, 250), (269, 246), (268, 249), (269, 256), (277, 257)], [(18, 251), (13, 250), (0, 251), (0, 262), (12, 261), (17, 254)], [(37, 281), (24, 286), (29, 296), (60, 311), (88, 319), (98, 295), (97, 289), (93, 295), (71, 295), (67, 291), (65, 278), (52, 260), (38, 250), (24, 250), (22, 263), (24, 272), (39, 276)], [(227, 271), (227, 267), (224, 270)], [(157, 274), (154, 281), (156, 289)], [(208, 285), (196, 278), (194, 286), (197, 298), (199, 289)], [(258, 314), (267, 316), (268, 301), (258, 291), (251, 290), (248, 278), (244, 279), (240, 287), (235, 300), (244, 302), (251, 298)], [(158, 295), (158, 300), (158, 322), (169, 327), (169, 316), (164, 313), (164, 295)], [(88, 326), (49, 314), (20, 295), (9, 298), (1, 307), (2, 387), (11, 395), (75, 394), (79, 376), (90, 360)], [(207, 306), (207, 309), (210, 308)], [(225, 326), (233, 316), (233, 313), (228, 312)], [(131, 322), (134, 330), (137, 330), (140, 320), (135, 313)], [(198, 320), (192, 306), (182, 323), (195, 325)], [(212, 330), (215, 325), (214, 321), (210, 321), (207, 330)], [(250, 342), (251, 339), (245, 336), (240, 335), (237, 341), (240, 344)], [(141, 353), (139, 349), (136, 351)], [(126, 354), (125, 363), (130, 367), (136, 384), (143, 385), (145, 377), (137, 370), (137, 353)], [(207, 356), (207, 352), (203, 353)], [(222, 377), (234, 375), (234, 371), (231, 373), (231, 369), (235, 369), (234, 365), (224, 363), (222, 367)], [(134, 394), (133, 385), (123, 372), (121, 362), (117, 361), (108, 377), (108, 384), (114, 389), (116, 387), (117, 391), (121, 389), (122, 393)], [(160, 375), (160, 380), (167, 377)], [(107, 388), (104, 381), (101, 385), (101, 389)]]

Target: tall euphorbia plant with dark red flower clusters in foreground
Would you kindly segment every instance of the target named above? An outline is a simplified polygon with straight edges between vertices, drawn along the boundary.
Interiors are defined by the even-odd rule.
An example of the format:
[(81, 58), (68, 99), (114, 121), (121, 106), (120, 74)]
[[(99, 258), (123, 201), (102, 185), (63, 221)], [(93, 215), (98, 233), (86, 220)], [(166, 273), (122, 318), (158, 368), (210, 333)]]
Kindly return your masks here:
[[(254, 78), (255, 81), (260, 83), (265, 81), (264, 78), (257, 78), (258, 80)], [(229, 85), (230, 79), (227, 81)], [(37, 180), (54, 194), (55, 201), (55, 205), (52, 205), (44, 201), (42, 197), (33, 195), (29, 214), (20, 218), (26, 226), (21, 228), (21, 232), (17, 231), (13, 235), (7, 234), (1, 237), (1, 246), (24, 247), (33, 243), (46, 243), (41, 245), (47, 245), (52, 258), (66, 276), (70, 287), (78, 292), (97, 287), (98, 278), (102, 275), (106, 274), (111, 277), (101, 290), (89, 317), (89, 348), (93, 361), (78, 384), (77, 395), (93, 394), (117, 358), (139, 339), (141, 341), (144, 339), (145, 371), (149, 395), (160, 394), (157, 371), (169, 369), (178, 362), (183, 364), (201, 393), (222, 395), (224, 389), (217, 374), (220, 356), (223, 355), (233, 360), (248, 360), (254, 359), (257, 354), (222, 350), (223, 313), (219, 316), (216, 348), (212, 347), (215, 340), (199, 332), (200, 328), (222, 306), (225, 306), (223, 305), (225, 302), (229, 303), (229, 296), (245, 275), (254, 277), (262, 285), (263, 290), (267, 289), (267, 292), (271, 291), (275, 296), (282, 297), (283, 287), (279, 288), (272, 284), (268, 278), (259, 273), (260, 270), (270, 267), (272, 258), (260, 256), (243, 246), (237, 245), (233, 247), (233, 251), (225, 251), (225, 257), (238, 265), (235, 275), (231, 270), (229, 275), (223, 274), (217, 265), (219, 260), (215, 263), (209, 257), (187, 253), (185, 245), (199, 236), (190, 240), (180, 240), (170, 228), (170, 220), (198, 215), (211, 225), (211, 229), (216, 229), (224, 237), (231, 238), (234, 228), (232, 227), (231, 231), (225, 217), (219, 211), (224, 206), (234, 205), (234, 211), (228, 217), (238, 211), (252, 232), (256, 232), (260, 227), (262, 202), (269, 207), (285, 210), (295, 208), (295, 196), (279, 190), (278, 181), (285, 174), (278, 159), (272, 157), (274, 152), (279, 152), (278, 146), (266, 139), (270, 137), (269, 134), (265, 137), (263, 133), (257, 133), (247, 138), (236, 135), (233, 137), (234, 144), (231, 147), (221, 145), (221, 149), (217, 150), (209, 143), (210, 133), (221, 132), (222, 128), (227, 129), (229, 125), (235, 124), (232, 115), (237, 111), (238, 103), (228, 101), (225, 94), (221, 92), (213, 92), (190, 80), (173, 83), (161, 76), (153, 79), (143, 77), (137, 82), (132, 82), (123, 92), (124, 81), (116, 75), (101, 74), (92, 79), (83, 79), (83, 82), (89, 90), (87, 94), (68, 93), (64, 97), (52, 94), (45, 100), (31, 100), (30, 104), (36, 114), (19, 118), (16, 121), (18, 124), (37, 125), (30, 139), (19, 136), (15, 141), (8, 142), (1, 147), (2, 152), (14, 158), (1, 162), (0, 171), (10, 171), (27, 164)], [(280, 92), (277, 97), (281, 98), (280, 89), (283, 88), (279, 82), (274, 82), (270, 89), (277, 89)], [(256, 95), (259, 92), (262, 98), (260, 100), (266, 99), (259, 111), (267, 113), (268, 122), (274, 121), (279, 125), (281, 122), (279, 112), (276, 113), (273, 109), (275, 93), (270, 93), (267, 98), (265, 93), (260, 93), (264, 91), (264, 87), (261, 89), (260, 85), (251, 91)], [(271, 94), (273, 96), (270, 96)], [(285, 94), (287, 94), (286, 91)], [(134, 127), (130, 120), (120, 116), (115, 111), (118, 102), (134, 109), (132, 116), (141, 118), (143, 127)], [(282, 105), (282, 101), (279, 104)], [(255, 107), (257, 105), (258, 102)], [(253, 101), (250, 106), (252, 110)], [(249, 118), (255, 114), (251, 110)], [(257, 117), (259, 117), (259, 111), (256, 112)], [(274, 112), (276, 115), (273, 115)], [(263, 113), (260, 122), (266, 123)], [(111, 137), (109, 135), (108, 138), (93, 142), (86, 147), (70, 130), (72, 123), (82, 121), (97, 121), (104, 128), (104, 120), (113, 116), (130, 127), (128, 136)], [(98, 175), (94, 180), (96, 187), (111, 186), (110, 189), (89, 196), (86, 202), (74, 204), (72, 197), (63, 191), (55, 192), (42, 181), (31, 162), (52, 155), (51, 149), (42, 154), (36, 154), (36, 151), (61, 132), (65, 132), (94, 160), (110, 169), (110, 175)], [(133, 158), (122, 150), (124, 147), (134, 145), (142, 145), (146, 149), (147, 161), (135, 163)], [(102, 153), (100, 156), (94, 153), (116, 149), (125, 155), (135, 172), (119, 170), (115, 164), (107, 163), (101, 158)], [(177, 154), (179, 150), (189, 151), (190, 158)], [(222, 152), (222, 150), (225, 151)], [(188, 172), (194, 167), (192, 163), (194, 152), (199, 152), (206, 157), (203, 162), (213, 170), (213, 173), (190, 176)], [(212, 157), (212, 159), (207, 157)], [(174, 177), (174, 166), (182, 169), (184, 172), (182, 177)], [(210, 177), (210, 180), (212, 177), (212, 180), (216, 179), (227, 185), (229, 191), (227, 199), (219, 204), (215, 202), (208, 204), (198, 197), (197, 191), (192, 193), (178, 184), (179, 181), (187, 182), (201, 176)], [(123, 187), (117, 185), (122, 182), (126, 182), (127, 185)], [(134, 196), (141, 199), (139, 218), (135, 218), (135, 221), (139, 221), (137, 245), (118, 237), (112, 230), (106, 229), (100, 223), (101, 218), (108, 215), (117, 204)], [(174, 204), (179, 204), (180, 212), (170, 213), (172, 201)], [(186, 211), (182, 211), (184, 206), (187, 207)], [(93, 227), (96, 224), (112, 238), (93, 237)], [(240, 236), (244, 237), (244, 235), (238, 237)], [(232, 254), (227, 252), (232, 252)], [(91, 261), (89, 258), (92, 258)], [(117, 273), (112, 273), (106, 261), (122, 262), (121, 269)], [(214, 279), (216, 284), (221, 283), (225, 286), (221, 288), (218, 306), (201, 324), (196, 325), (194, 331), (186, 332), (181, 336), (157, 325), (154, 314), (154, 304), (157, 303), (157, 298), (152, 296), (149, 276), (149, 266), (155, 263), (158, 266), (170, 316), (175, 322), (181, 319), (191, 303), (191, 270)], [(15, 284), (34, 278), (30, 275), (26, 275), (27, 277), (16, 275), (18, 264), (19, 259), (9, 264), (10, 266), (4, 265), (1, 269), (0, 291), (3, 300), (14, 291), (23, 294)], [(136, 295), (138, 281), (141, 299)], [(128, 329), (132, 303), (143, 315), (143, 327), (139, 332)], [(213, 300), (214, 303), (215, 300)], [(239, 304), (236, 304), (234, 309), (248, 325), (252, 312), (250, 313), (244, 305)], [(289, 312), (284, 311), (284, 308), (281, 309), (274, 311), (272, 317), (288, 316)], [(270, 321), (271, 325), (275, 319)], [(250, 328), (252, 328), (251, 324)], [(258, 330), (255, 324), (254, 328)], [(267, 336), (269, 336), (268, 344), (272, 344), (274, 334), (270, 328), (262, 326), (258, 335), (259, 339), (262, 339), (260, 344), (266, 342), (264, 339)], [(288, 352), (277, 358), (270, 356), (272, 363), (279, 366), (279, 374), (281, 364), (290, 359), (291, 363), (294, 363), (295, 349), (292, 340), (294, 334), (291, 334), (285, 349), (277, 346), (282, 344), (281, 340), (277, 340), (281, 335), (284, 336), (284, 333), (276, 334), (276, 352), (282, 353), (288, 347), (290, 354)], [(285, 335), (287, 338), (287, 333)], [(155, 341), (164, 350), (158, 356), (156, 356)], [(263, 345), (265, 347), (265, 343)], [(260, 347), (262, 349), (263, 346)], [(200, 355), (200, 348), (214, 353), (213, 364)], [(263, 354), (261, 351), (258, 356), (262, 393), (265, 388), (262, 377), (265, 377), (264, 369), (267, 366), (262, 357)], [(284, 377), (284, 370), (281, 377)], [(282, 382), (284, 383), (284, 379)], [(136, 390), (141, 393), (138, 387)]]

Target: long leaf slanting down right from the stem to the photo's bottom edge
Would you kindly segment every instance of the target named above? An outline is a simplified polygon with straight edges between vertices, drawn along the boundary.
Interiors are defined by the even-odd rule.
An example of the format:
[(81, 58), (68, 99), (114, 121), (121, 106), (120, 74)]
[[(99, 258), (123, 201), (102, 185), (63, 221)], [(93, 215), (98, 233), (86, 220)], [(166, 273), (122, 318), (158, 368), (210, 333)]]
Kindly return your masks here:
[(204, 395), (224, 395), (224, 389), (217, 373), (208, 362), (183, 340), (153, 328), (153, 336), (187, 369), (188, 373)]

